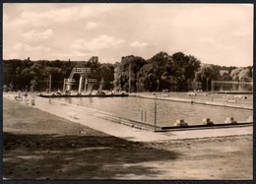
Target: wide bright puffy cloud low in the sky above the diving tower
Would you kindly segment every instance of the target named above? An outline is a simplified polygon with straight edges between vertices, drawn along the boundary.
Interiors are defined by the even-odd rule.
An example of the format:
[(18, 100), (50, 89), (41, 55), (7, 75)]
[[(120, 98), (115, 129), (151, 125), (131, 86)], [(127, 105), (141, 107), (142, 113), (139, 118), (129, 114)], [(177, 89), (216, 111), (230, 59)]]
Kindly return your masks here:
[(123, 39), (118, 39), (113, 36), (101, 34), (90, 41), (86, 41), (85, 39), (77, 39), (71, 45), (71, 48), (78, 49), (78, 50), (95, 51), (98, 49), (115, 47), (115, 46), (121, 45), (124, 42), (125, 40)]

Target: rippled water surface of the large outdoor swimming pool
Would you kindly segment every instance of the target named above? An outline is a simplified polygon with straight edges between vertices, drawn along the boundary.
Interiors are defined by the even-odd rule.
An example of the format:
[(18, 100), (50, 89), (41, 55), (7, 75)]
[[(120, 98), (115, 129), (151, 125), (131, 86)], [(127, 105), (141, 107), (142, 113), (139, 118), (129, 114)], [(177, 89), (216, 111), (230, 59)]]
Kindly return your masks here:
[[(154, 124), (155, 100), (140, 97), (66, 97), (62, 101), (79, 104), (100, 111), (114, 113), (119, 117), (141, 121), (142, 111), (147, 111), (147, 123)], [(157, 122), (160, 126), (170, 126), (177, 119), (185, 119), (189, 124), (202, 124), (203, 118), (211, 118), (215, 123), (224, 123), (226, 117), (245, 121), (252, 110), (232, 109), (200, 104), (190, 104), (167, 100), (157, 101)]]

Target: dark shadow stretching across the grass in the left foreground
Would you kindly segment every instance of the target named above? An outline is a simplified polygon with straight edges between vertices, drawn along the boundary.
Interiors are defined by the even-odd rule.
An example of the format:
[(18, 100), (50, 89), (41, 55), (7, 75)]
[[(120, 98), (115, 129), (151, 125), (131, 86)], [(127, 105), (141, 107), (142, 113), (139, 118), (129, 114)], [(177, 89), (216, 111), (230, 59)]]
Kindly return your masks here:
[(3, 149), (4, 177), (11, 179), (154, 178), (161, 174), (160, 161), (177, 158), (111, 136), (4, 133)]

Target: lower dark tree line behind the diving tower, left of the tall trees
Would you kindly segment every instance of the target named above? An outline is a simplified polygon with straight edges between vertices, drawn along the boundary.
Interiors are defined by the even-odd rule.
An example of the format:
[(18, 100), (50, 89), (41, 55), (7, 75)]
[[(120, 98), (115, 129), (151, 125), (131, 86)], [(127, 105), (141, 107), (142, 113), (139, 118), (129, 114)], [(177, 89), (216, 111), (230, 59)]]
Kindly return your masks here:
[[(49, 89), (49, 75), (51, 75), (52, 91), (62, 91), (64, 79), (67, 79), (74, 67), (91, 68), (90, 78), (98, 82), (104, 79), (105, 88), (112, 88), (114, 80), (114, 65), (99, 63), (96, 56), (88, 61), (31, 61), (30, 58), (25, 60), (12, 59), (3, 61), (3, 84), (4, 91), (32, 91), (47, 92)], [(80, 76), (74, 75), (78, 82)], [(75, 89), (78, 83), (74, 85)], [(96, 84), (95, 88), (98, 88)]]

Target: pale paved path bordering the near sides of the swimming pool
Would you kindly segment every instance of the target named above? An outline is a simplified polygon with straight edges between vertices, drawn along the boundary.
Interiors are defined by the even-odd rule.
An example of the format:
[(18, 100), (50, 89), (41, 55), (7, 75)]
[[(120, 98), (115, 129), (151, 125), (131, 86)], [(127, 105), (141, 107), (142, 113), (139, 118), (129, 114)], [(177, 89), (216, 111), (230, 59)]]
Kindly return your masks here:
[[(5, 94), (4, 97), (14, 99), (14, 95)], [(18, 101), (17, 101), (18, 102)], [(24, 103), (25, 102), (20, 102)], [(31, 105), (27, 103), (25, 105)], [(252, 134), (252, 126), (240, 127), (240, 128), (224, 128), (224, 129), (208, 129), (208, 130), (185, 130), (185, 131), (173, 131), (173, 132), (152, 132), (148, 130), (140, 130), (132, 128), (130, 126), (121, 125), (105, 119), (101, 119), (92, 115), (89, 115), (86, 108), (51, 100), (49, 104), (48, 98), (35, 97), (35, 105), (31, 105), (34, 108), (42, 111), (49, 112), (51, 114), (69, 119), (70, 121), (80, 123), (82, 125), (93, 128), (97, 131), (104, 132), (108, 135), (122, 138), (128, 141), (136, 142), (161, 142), (166, 140), (180, 140), (180, 139), (195, 139), (206, 137), (220, 137), (220, 136), (232, 136), (232, 135), (247, 135)], [(77, 118), (71, 117), (71, 114), (76, 115)]]

